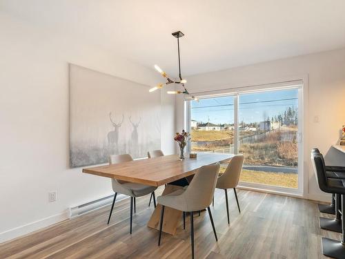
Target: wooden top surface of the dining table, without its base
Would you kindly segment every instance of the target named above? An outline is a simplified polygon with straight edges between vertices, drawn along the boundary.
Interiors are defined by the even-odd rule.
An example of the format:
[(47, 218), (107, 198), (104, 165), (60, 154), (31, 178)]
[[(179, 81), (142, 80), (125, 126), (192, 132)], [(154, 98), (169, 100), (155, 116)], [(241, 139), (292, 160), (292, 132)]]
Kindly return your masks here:
[(197, 158), (179, 160), (179, 155), (164, 155), (149, 159), (88, 167), (83, 173), (106, 178), (136, 182), (150, 186), (161, 186), (193, 175), (201, 166), (216, 162), (228, 162), (234, 154), (198, 153)]

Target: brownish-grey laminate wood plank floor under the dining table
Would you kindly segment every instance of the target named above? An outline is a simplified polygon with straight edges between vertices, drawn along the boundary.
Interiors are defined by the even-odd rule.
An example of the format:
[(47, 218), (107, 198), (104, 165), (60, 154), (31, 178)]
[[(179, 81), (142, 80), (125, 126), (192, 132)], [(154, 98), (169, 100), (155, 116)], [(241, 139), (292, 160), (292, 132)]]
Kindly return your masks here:
[[(315, 202), (238, 190), (239, 213), (233, 191), (228, 196), (230, 225), (224, 191), (216, 190), (211, 205), (218, 242), (207, 212), (195, 214), (195, 258), (326, 258), (321, 237), (340, 240), (339, 233), (319, 229), (319, 216), (331, 215), (319, 213)], [(107, 206), (0, 244), (0, 258), (190, 258), (189, 216), (186, 230), (181, 218), (177, 234), (163, 233), (158, 247), (158, 231), (146, 227), (153, 211), (149, 198), (137, 198), (131, 236), (126, 198), (115, 203), (109, 225)]]

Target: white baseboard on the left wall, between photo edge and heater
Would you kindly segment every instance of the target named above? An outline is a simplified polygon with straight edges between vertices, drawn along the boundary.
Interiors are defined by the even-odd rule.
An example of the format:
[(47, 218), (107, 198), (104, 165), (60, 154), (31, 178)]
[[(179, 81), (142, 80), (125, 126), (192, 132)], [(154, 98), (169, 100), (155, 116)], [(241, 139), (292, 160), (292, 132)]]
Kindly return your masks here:
[(24, 224), (23, 226), (15, 227), (14, 229), (3, 231), (0, 233), (0, 243), (12, 240), (14, 238), (18, 238), (19, 236), (26, 235), (39, 229), (43, 229), (52, 224), (56, 224), (57, 222), (68, 220), (68, 218), (68, 210), (66, 209), (66, 211), (63, 211), (62, 213), (52, 215), (50, 217), (43, 218), (41, 220), (37, 220), (34, 222), (30, 222), (28, 224)]

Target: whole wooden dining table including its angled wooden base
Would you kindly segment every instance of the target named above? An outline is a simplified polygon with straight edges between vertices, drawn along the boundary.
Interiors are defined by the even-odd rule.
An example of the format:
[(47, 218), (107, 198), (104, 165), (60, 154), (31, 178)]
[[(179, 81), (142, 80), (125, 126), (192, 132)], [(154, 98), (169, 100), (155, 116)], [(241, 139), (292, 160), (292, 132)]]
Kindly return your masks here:
[[(170, 182), (181, 178), (190, 180), (201, 166), (217, 162), (228, 162), (233, 156), (233, 154), (224, 153), (198, 153), (197, 158), (188, 157), (185, 160), (179, 160), (179, 155), (164, 155), (162, 157), (133, 160), (119, 164), (89, 167), (83, 169), (83, 173), (150, 186), (166, 184), (162, 195), (167, 195), (182, 188), (181, 186), (170, 185)], [(160, 211), (161, 205), (157, 204), (148, 221), (148, 227), (158, 229)], [(164, 214), (168, 216), (164, 219), (163, 231), (174, 235), (177, 224), (181, 220), (182, 211), (166, 208), (166, 213)]]

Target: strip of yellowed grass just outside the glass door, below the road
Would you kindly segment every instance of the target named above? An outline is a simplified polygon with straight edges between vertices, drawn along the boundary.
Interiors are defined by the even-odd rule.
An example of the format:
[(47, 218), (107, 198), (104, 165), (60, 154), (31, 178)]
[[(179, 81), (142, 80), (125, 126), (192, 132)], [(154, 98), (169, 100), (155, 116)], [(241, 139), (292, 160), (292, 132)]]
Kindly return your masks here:
[[(225, 168), (221, 167), (219, 172), (223, 173), (224, 170)], [(298, 187), (297, 173), (275, 173), (243, 169), (239, 180), (241, 182), (255, 182), (258, 184), (268, 184), (295, 189)]]

